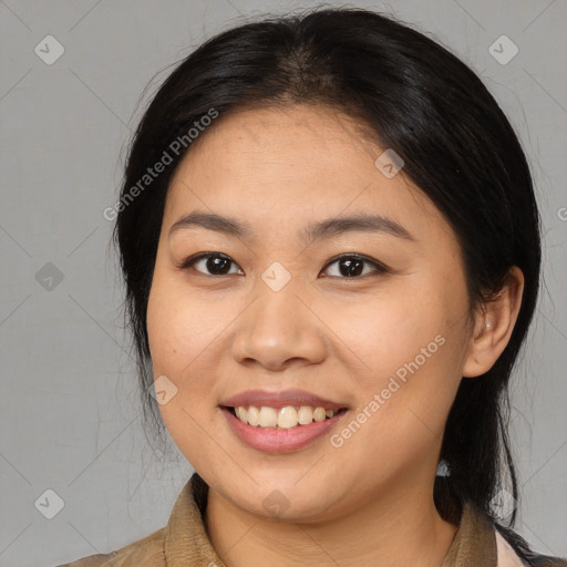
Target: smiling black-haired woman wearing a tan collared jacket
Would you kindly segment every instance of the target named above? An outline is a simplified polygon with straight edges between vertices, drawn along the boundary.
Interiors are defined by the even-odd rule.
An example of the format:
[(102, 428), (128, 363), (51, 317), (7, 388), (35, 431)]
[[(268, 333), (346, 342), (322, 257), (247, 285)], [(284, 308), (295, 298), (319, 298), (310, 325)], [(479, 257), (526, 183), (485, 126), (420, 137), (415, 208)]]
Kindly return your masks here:
[(444, 48), (348, 9), (221, 33), (157, 92), (107, 215), (147, 415), (196, 473), (166, 527), (70, 565), (567, 565), (495, 511), (539, 220)]

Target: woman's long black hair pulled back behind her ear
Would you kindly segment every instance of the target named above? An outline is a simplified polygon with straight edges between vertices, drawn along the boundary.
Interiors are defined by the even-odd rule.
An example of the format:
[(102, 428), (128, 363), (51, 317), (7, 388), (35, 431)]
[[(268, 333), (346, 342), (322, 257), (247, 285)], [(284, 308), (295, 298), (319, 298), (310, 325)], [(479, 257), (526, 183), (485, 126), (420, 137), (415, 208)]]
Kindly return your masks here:
[[(212, 109), (221, 120), (239, 110), (293, 104), (336, 109), (401, 156), (403, 174), (456, 234), (472, 310), (502, 289), (512, 266), (524, 275), (506, 349), (485, 374), (461, 381), (440, 455), (450, 475), (437, 476), (435, 484), (435, 502), (446, 517), (454, 496), (494, 517), (491, 501), (505, 481), (518, 497), (507, 384), (539, 288), (533, 182), (513, 127), (478, 76), (444, 47), (388, 16), (319, 9), (238, 25), (184, 59), (148, 105), (130, 147), (113, 235), (144, 414), (163, 432), (148, 394), (146, 308), (167, 188), (190, 148), (187, 133)], [(186, 142), (177, 153), (172, 152), (176, 140)], [(146, 168), (164, 152), (172, 163), (132, 198), (132, 188), (140, 188)], [(515, 515), (514, 509), (509, 525)]]

